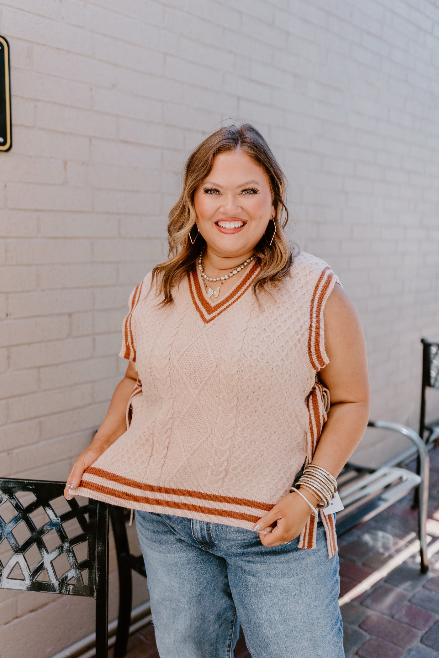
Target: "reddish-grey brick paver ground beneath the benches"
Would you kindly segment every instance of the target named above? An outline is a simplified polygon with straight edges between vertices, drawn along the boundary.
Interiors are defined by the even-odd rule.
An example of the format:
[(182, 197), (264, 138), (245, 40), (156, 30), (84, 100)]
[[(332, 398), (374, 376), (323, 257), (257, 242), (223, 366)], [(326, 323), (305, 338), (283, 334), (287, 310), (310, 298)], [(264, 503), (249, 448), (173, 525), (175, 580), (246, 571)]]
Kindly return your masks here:
[[(439, 538), (439, 448), (430, 452), (430, 466), (428, 535), (432, 543)], [(408, 467), (414, 470), (415, 465)], [(416, 536), (417, 513), (406, 497), (340, 538), (340, 594), (384, 567)], [(419, 572), (415, 553), (369, 590), (344, 603), (342, 616), (346, 658), (439, 658), (439, 549), (430, 559), (427, 574)], [(127, 658), (159, 658), (152, 624), (130, 637)], [(235, 658), (251, 658), (243, 636)]]

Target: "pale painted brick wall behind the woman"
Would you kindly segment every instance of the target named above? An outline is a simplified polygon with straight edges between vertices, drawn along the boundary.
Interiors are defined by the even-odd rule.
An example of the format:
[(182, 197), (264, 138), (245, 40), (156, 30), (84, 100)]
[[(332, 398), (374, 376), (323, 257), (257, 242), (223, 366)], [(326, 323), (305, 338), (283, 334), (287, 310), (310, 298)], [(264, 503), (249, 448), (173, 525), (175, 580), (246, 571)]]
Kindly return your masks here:
[[(229, 120), (266, 136), (290, 181), (292, 236), (359, 310), (373, 417), (417, 426), (419, 339), (439, 338), (434, 0), (0, 0), (0, 34), (13, 91), (3, 476), (63, 479), (90, 442), (126, 367), (128, 295), (166, 257), (180, 168)], [(406, 447), (367, 435), (359, 459)], [(70, 630), (49, 633), (41, 595), (1, 596), (0, 636), (22, 643), (9, 658), (53, 655), (92, 628), (62, 599)]]

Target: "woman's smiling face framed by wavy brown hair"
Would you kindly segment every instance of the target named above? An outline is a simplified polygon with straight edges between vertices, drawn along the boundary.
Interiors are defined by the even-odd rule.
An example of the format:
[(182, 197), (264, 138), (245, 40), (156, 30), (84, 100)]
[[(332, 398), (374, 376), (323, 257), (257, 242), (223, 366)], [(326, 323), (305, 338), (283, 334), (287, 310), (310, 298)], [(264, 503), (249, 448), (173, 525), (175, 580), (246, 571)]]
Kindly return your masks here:
[(220, 153), (194, 193), (199, 232), (209, 249), (238, 257), (254, 249), (274, 217), (269, 178), (244, 151)]

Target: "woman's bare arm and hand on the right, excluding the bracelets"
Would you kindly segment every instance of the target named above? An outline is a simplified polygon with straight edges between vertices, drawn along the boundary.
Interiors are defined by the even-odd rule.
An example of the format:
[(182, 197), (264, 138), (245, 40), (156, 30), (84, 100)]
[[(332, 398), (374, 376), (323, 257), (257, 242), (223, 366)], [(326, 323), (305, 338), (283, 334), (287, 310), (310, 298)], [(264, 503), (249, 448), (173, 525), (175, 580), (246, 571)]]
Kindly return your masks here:
[[(328, 420), (313, 457), (313, 463), (337, 476), (357, 447), (369, 418), (369, 378), (366, 347), (357, 311), (348, 295), (335, 286), (324, 309), (325, 347), (330, 363), (319, 373), (328, 388), (331, 407)], [(301, 492), (316, 505), (311, 491)], [(259, 534), (266, 546), (277, 546), (301, 533), (310, 508), (297, 495), (288, 493), (257, 522), (255, 530), (276, 526), (267, 535)]]

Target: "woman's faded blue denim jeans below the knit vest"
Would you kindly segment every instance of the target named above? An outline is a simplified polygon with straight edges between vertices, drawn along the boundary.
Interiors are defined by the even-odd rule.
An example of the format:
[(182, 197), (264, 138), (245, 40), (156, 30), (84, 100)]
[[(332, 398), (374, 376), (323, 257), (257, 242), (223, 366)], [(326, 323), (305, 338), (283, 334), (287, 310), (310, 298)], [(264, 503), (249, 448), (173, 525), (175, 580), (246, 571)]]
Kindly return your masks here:
[(342, 658), (338, 555), (256, 532), (136, 511), (161, 658), (233, 658), (241, 624), (252, 658)]

